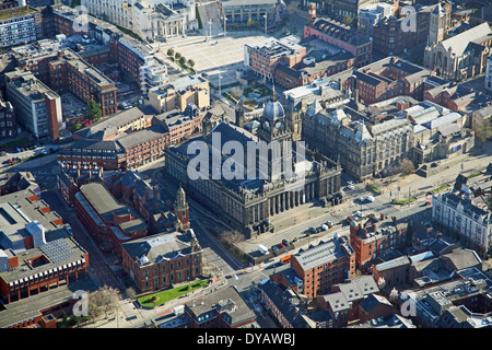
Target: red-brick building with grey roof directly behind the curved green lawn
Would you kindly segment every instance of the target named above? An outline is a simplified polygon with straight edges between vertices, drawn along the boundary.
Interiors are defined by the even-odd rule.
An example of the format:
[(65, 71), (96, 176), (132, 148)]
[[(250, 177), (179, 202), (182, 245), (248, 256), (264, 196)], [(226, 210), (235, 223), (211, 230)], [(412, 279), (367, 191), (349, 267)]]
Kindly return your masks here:
[(159, 291), (201, 276), (203, 259), (198, 241), (181, 240), (176, 233), (161, 233), (122, 244), (121, 264), (141, 292)]

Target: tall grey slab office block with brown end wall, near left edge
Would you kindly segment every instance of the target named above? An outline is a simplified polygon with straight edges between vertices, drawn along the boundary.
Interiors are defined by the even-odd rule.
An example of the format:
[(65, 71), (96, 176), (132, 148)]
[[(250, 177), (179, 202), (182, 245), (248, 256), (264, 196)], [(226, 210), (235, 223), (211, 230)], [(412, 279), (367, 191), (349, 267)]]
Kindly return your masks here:
[(37, 138), (58, 140), (61, 125), (61, 100), (30, 71), (5, 73), (7, 96), (17, 121)]

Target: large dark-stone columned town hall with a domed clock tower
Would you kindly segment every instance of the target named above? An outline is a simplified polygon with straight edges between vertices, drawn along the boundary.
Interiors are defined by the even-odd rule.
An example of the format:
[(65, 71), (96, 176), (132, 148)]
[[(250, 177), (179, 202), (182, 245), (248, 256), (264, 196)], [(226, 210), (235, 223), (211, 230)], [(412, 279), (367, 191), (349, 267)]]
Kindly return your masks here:
[[(222, 153), (225, 142), (235, 141), (235, 144), (242, 144), (241, 152), (244, 152), (246, 161), (246, 152), (250, 148), (248, 142), (262, 141), (261, 144), (263, 144), (274, 141), (278, 142), (276, 144), (288, 144), (283, 155), (286, 156), (286, 160), (292, 160), (292, 158), (288, 158), (289, 152), (292, 151), (293, 154), (296, 152), (292, 143), (290, 148), (286, 143), (293, 137), (292, 120), (285, 117), (283, 106), (277, 100), (276, 94), (266, 104), (260, 124), (261, 127), (257, 135), (226, 122), (220, 122), (212, 130), (204, 127), (204, 141), (200, 144), (210, 152), (216, 150)], [(211, 132), (208, 133), (207, 130)], [(214, 139), (216, 141), (213, 141)], [(196, 162), (194, 160), (196, 153), (189, 154), (188, 148), (195, 147), (192, 143), (195, 141), (191, 139), (179, 147), (166, 149), (166, 173), (176, 182), (181, 183), (195, 199), (208, 203), (224, 220), (248, 234), (254, 231), (271, 230), (269, 221), (271, 215), (305, 202), (315, 199), (332, 203), (340, 201), (341, 168), (336, 162), (316, 152), (306, 150), (306, 162), (308, 163), (304, 167), (307, 170), (305, 176), (303, 174), (288, 176), (285, 167), (281, 170), (277, 166), (279, 164), (273, 162), (274, 160), (278, 162), (280, 158), (274, 158), (274, 160), (268, 158), (268, 160), (262, 160), (265, 164), (259, 164), (259, 161), (251, 163), (247, 176), (244, 173), (226, 179), (222, 174), (215, 174), (215, 172), (212, 175), (210, 167), (208, 170), (203, 167), (199, 178), (190, 178), (188, 166), (190, 162)], [(200, 154), (201, 152), (208, 153), (204, 149), (200, 150)], [(248, 162), (253, 162), (253, 160)], [(237, 166), (239, 173), (247, 168), (245, 164), (237, 164)]]

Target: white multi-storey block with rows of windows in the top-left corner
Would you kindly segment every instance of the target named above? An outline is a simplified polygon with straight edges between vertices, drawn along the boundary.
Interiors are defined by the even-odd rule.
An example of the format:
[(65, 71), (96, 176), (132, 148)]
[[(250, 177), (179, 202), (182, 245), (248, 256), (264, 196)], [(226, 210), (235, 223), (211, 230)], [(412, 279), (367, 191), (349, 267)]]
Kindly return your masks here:
[(10, 47), (43, 38), (39, 10), (20, 7), (0, 10), (0, 47)]

